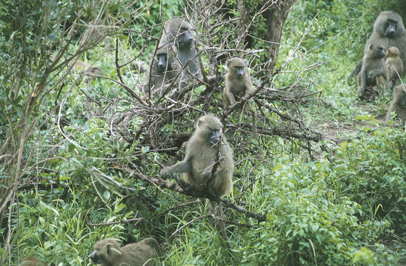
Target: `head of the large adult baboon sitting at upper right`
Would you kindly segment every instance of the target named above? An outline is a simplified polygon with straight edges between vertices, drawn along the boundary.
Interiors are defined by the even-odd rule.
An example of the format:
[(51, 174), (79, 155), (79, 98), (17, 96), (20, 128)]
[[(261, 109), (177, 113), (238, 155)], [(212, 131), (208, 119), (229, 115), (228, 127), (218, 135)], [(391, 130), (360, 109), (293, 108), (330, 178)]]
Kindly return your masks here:
[(375, 31), (388, 38), (403, 34), (405, 27), (401, 16), (393, 11), (383, 11), (379, 14), (374, 24)]

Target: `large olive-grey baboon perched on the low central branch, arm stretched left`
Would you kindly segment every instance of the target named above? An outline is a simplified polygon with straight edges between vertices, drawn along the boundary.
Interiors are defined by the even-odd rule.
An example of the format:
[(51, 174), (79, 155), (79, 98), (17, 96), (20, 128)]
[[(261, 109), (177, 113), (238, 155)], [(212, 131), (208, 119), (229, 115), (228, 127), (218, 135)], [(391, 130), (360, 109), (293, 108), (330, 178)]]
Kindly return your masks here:
[[(221, 141), (220, 147), (217, 143)], [(219, 157), (217, 157), (219, 152)], [(234, 162), (232, 149), (223, 135), (223, 126), (220, 120), (212, 115), (200, 117), (195, 130), (186, 144), (186, 154), (183, 161), (162, 169), (162, 176), (171, 176), (182, 173), (182, 183), (186, 190), (202, 189), (202, 185), (211, 177), (213, 166), (219, 158), (220, 164), (213, 174), (207, 189), (209, 193), (222, 198), (232, 188)]]

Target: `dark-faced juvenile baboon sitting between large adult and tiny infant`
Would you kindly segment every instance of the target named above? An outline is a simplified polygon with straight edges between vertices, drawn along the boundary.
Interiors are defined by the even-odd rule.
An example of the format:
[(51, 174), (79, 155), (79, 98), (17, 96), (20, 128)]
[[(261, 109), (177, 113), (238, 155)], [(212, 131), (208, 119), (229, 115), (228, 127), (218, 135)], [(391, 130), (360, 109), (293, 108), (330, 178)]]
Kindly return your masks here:
[[(384, 63), (385, 51), (380, 44), (369, 44), (368, 51), (362, 58), (361, 71), (358, 73), (358, 96), (362, 97), (366, 87), (377, 86), (381, 91), (387, 79), (388, 69)], [(383, 91), (385, 92), (385, 91)]]

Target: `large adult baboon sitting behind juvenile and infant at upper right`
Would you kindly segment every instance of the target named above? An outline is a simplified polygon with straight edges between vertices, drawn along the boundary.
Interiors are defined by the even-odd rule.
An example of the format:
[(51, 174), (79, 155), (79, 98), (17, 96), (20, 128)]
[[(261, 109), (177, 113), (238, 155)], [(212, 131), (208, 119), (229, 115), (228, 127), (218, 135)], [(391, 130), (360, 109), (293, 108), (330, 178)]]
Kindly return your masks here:
[[(403, 25), (402, 17), (394, 11), (382, 11), (376, 18), (373, 32), (365, 43), (364, 52), (369, 49), (369, 44), (381, 44), (384, 49), (391, 46), (399, 48), (400, 58), (403, 64), (406, 60), (406, 30)], [(362, 60), (360, 60), (362, 61)], [(357, 62), (357, 67), (361, 63)], [(404, 66), (405, 68), (405, 66)], [(352, 72), (356, 76), (360, 68)], [(352, 76), (352, 73), (349, 77)]]

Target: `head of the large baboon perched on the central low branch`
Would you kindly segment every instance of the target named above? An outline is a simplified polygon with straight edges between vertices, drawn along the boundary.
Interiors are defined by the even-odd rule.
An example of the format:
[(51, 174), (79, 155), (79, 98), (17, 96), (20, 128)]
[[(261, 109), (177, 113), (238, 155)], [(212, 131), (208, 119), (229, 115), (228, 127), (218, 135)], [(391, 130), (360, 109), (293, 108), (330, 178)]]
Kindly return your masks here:
[(223, 133), (220, 120), (212, 115), (205, 115), (199, 118), (196, 123), (196, 131), (199, 131), (199, 135), (204, 136), (207, 143), (211, 146), (219, 142)]

